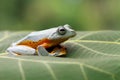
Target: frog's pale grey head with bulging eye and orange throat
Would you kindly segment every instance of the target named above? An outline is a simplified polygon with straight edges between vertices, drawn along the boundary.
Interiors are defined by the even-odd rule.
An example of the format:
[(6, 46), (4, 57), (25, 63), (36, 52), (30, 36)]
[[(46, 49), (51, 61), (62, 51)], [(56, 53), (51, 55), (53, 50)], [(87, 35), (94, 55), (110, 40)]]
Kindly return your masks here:
[(63, 42), (71, 37), (74, 37), (76, 32), (71, 29), (71, 26), (66, 24), (64, 26), (56, 27), (52, 30), (52, 33), (49, 35), (50, 40), (59, 40), (59, 42)]

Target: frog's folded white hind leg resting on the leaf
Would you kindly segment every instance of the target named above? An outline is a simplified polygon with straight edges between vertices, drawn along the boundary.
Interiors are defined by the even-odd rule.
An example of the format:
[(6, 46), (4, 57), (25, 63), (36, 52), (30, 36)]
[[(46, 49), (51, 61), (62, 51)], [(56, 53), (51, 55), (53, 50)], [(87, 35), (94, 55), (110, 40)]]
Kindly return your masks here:
[(11, 46), (6, 50), (10, 56), (17, 56), (17, 55), (34, 55), (36, 50), (23, 45), (18, 46)]

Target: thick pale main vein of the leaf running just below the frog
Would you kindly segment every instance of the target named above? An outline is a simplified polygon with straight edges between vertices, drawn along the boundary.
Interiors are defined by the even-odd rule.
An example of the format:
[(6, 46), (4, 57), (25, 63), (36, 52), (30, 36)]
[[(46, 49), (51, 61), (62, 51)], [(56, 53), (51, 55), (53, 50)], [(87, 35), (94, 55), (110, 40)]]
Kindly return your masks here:
[[(23, 59), (23, 58), (12, 58), (12, 57), (6, 57), (6, 56), (0, 56), (0, 58), (8, 58), (8, 59), (16, 59), (16, 60), (20, 60), (20, 61), (28, 61), (28, 62), (42, 62), (46, 65), (46, 67), (48, 69), (51, 69), (51, 67), (47, 64), (47, 63), (57, 63), (57, 64), (76, 64), (76, 65), (84, 65), (88, 68), (91, 68), (93, 70), (97, 70), (99, 72), (103, 72), (103, 73), (106, 73), (106, 74), (109, 74), (111, 76), (114, 76), (114, 74), (108, 72), (108, 71), (105, 71), (103, 69), (100, 69), (100, 68), (97, 68), (97, 67), (94, 67), (94, 66), (91, 66), (91, 65), (88, 65), (88, 64), (85, 64), (85, 63), (81, 63), (81, 62), (69, 62), (69, 61), (44, 61), (44, 60), (33, 60), (33, 59)], [(21, 63), (19, 63), (19, 65), (21, 65)], [(21, 66), (22, 67), (22, 66)], [(51, 71), (53, 72), (53, 70), (51, 69)], [(54, 74), (54, 73), (53, 73)], [(54, 76), (54, 75), (53, 75)], [(57, 80), (57, 79), (55, 79)]]

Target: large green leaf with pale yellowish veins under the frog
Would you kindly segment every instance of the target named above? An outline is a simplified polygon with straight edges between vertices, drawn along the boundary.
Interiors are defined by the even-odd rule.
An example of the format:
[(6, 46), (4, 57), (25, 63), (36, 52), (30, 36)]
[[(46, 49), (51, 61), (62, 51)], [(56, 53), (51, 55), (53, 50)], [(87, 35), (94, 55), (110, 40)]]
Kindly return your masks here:
[(66, 57), (5, 55), (29, 32), (0, 32), (0, 80), (120, 80), (120, 31), (79, 31)]

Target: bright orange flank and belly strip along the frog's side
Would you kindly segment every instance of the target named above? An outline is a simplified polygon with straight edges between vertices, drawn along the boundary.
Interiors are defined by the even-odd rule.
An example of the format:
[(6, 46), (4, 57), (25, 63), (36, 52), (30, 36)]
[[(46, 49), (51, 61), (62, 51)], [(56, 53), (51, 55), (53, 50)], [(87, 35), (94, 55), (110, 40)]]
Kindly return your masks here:
[(32, 41), (32, 40), (24, 40), (17, 45), (26, 45), (37, 49), (38, 46), (43, 46), (44, 48), (50, 48), (56, 45), (59, 45), (61, 42), (66, 41), (68, 38), (64, 39), (56, 39), (56, 40), (49, 40), (47, 38), (41, 39), (39, 41)]

